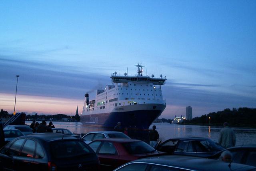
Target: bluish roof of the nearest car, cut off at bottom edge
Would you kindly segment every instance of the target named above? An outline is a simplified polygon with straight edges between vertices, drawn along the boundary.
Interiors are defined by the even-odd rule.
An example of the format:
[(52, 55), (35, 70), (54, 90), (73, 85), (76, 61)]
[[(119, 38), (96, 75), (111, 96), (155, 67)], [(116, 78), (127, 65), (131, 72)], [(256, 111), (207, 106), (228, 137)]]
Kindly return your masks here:
[[(129, 163), (152, 163), (157, 165), (166, 165), (172, 166), (182, 169), (191, 169), (191, 170), (207, 170), (207, 171), (215, 171), (215, 170), (236, 170), (236, 169), (254, 169), (255, 167), (249, 165), (242, 165), (238, 163), (231, 163), (230, 167), (229, 163), (214, 160), (214, 159), (206, 159), (201, 157), (191, 157), (191, 156), (178, 156), (178, 155), (166, 155), (159, 157), (147, 157), (143, 159), (138, 159)], [(245, 169), (246, 168), (246, 169)]]

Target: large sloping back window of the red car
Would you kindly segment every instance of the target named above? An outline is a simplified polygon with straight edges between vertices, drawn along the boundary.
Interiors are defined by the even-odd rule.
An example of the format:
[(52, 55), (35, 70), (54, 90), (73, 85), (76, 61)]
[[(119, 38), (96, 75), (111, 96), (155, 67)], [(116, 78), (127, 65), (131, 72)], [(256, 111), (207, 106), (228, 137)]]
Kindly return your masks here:
[(130, 154), (143, 154), (155, 151), (153, 147), (143, 141), (123, 143), (122, 145)]

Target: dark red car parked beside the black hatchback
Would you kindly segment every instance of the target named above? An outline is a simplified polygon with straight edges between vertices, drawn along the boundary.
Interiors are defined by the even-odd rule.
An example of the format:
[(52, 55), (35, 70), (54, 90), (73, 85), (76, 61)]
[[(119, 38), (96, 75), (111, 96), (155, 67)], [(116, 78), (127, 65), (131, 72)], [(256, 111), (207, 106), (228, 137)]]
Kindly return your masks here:
[(129, 161), (165, 155), (144, 141), (126, 138), (98, 139), (88, 144), (100, 159), (101, 170), (113, 170)]

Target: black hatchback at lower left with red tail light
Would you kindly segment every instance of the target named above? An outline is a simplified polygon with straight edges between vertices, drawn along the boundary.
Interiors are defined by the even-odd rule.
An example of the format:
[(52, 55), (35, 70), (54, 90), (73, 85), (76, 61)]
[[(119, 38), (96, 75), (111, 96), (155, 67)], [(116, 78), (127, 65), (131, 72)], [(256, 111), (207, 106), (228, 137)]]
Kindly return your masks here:
[(0, 149), (0, 170), (95, 171), (99, 160), (82, 140), (59, 133), (18, 137)]

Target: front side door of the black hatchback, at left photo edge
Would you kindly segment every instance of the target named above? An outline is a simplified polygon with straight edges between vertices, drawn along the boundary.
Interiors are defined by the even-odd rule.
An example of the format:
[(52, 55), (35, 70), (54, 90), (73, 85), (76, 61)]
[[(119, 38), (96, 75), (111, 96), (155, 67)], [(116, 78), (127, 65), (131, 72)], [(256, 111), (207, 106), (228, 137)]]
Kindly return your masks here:
[(18, 163), (16, 158), (20, 155), (20, 149), (25, 139), (17, 139), (12, 144), (7, 144), (0, 151), (0, 165), (3, 170), (16, 170)]

